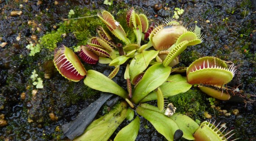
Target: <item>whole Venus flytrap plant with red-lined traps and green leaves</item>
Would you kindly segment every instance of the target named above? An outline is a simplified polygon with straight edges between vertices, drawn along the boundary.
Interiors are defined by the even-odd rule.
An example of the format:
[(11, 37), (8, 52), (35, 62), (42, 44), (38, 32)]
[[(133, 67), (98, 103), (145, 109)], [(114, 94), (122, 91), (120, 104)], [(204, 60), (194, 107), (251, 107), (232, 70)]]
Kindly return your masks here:
[[(183, 12), (180, 9), (175, 10), (177, 10), (177, 15)], [(186, 92), (192, 85), (198, 85), (199, 89), (207, 94), (215, 91), (220, 93), (218, 89), (223, 89), (223, 87), (218, 86), (227, 84), (234, 76), (234, 64), (215, 57), (203, 57), (186, 69), (186, 77), (180, 74), (171, 75), (172, 67), (179, 63), (178, 56), (188, 46), (200, 44), (203, 41), (198, 26), (186, 28), (174, 19), (167, 19), (163, 24), (148, 27), (149, 23), (145, 14), (129, 10), (126, 22), (136, 37), (135, 40), (130, 40), (110, 12), (102, 10), (97, 15), (106, 27), (98, 27), (98, 36), (90, 37), (87, 45), (79, 47), (81, 50), (78, 56), (86, 63), (96, 64), (99, 61), (99, 63), (114, 66), (113, 71), (108, 76), (95, 70), (86, 72), (75, 53), (64, 46), (56, 49), (54, 64), (65, 78), (77, 82), (86, 75), (83, 80), (85, 85), (101, 92), (116, 94), (126, 102), (123, 100), (109, 114), (93, 121), (87, 128), (85, 127), (80, 137), (77, 137), (80, 134), (75, 134), (76, 136), (69, 136), (69, 138), (73, 140), (77, 137), (75, 141), (107, 141), (121, 122), (127, 118), (127, 120), (133, 120), (118, 132), (114, 141), (134, 141), (140, 127), (139, 116), (134, 118), (132, 110), (135, 110), (138, 115), (149, 120), (168, 141), (176, 139), (174, 135), (177, 130), (181, 130), (182, 137), (187, 140), (200, 141), (196, 139), (200, 137), (200, 133), (196, 137), (193, 136), (199, 130), (199, 126), (191, 118), (175, 113), (175, 110), (171, 115), (164, 115), (166, 108), (164, 98)], [(115, 36), (117, 40), (111, 36)], [(146, 40), (147, 37), (149, 37), (147, 44), (141, 45), (141, 40)], [(124, 79), (127, 82), (127, 90), (111, 80), (121, 66), (126, 66)], [(218, 96), (222, 97), (222, 95)], [(225, 100), (225, 98), (222, 99)], [(157, 100), (157, 107), (143, 104), (150, 100)], [(127, 104), (131, 107), (128, 112)], [(167, 107), (169, 111), (175, 108), (170, 105), (168, 104)], [(207, 130), (201, 131), (207, 132)], [(95, 136), (96, 134), (98, 136)], [(213, 140), (214, 138), (210, 139), (210, 141)]]

